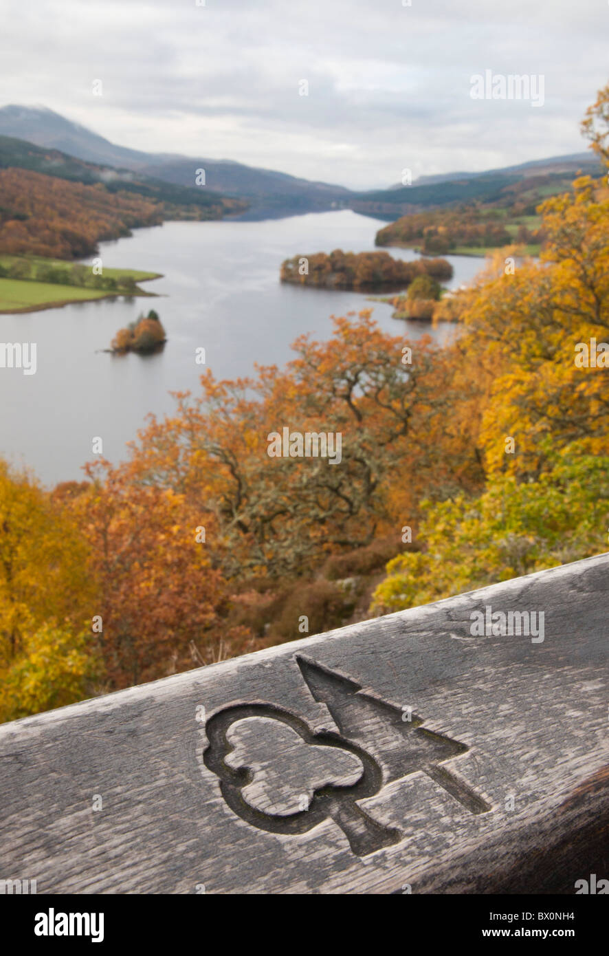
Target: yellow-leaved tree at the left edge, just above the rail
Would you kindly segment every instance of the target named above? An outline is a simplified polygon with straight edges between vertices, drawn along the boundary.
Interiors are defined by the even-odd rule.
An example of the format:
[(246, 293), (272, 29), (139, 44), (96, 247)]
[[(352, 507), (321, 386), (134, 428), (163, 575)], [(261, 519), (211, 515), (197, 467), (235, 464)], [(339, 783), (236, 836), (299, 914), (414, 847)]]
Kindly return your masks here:
[(74, 521), (0, 461), (0, 719), (70, 704), (95, 677), (87, 560)]

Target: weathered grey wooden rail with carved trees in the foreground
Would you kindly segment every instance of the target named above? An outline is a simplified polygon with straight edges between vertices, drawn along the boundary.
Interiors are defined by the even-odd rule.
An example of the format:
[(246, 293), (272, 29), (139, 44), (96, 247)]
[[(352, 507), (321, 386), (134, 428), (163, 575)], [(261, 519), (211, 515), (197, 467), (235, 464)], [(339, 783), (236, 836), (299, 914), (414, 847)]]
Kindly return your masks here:
[[(604, 554), (0, 727), (0, 880), (573, 893), (607, 878), (608, 573)], [(487, 606), (543, 611), (543, 641), (472, 636)]]

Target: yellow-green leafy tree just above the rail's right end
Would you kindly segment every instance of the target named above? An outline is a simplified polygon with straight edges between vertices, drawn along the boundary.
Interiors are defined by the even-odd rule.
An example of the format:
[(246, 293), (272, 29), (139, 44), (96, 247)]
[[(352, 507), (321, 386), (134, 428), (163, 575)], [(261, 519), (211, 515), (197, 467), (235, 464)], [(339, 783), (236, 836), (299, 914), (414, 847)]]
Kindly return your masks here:
[(491, 478), (478, 498), (427, 502), (416, 553), (387, 565), (371, 613), (386, 614), (555, 567), (606, 548), (609, 457), (576, 445), (532, 482)]

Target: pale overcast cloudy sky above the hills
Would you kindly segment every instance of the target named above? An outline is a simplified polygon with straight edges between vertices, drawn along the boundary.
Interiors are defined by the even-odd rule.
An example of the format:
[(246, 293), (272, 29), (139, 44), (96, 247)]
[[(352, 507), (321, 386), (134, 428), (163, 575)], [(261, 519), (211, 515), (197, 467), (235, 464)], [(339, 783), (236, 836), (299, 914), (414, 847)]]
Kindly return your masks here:
[[(407, 3), (0, 0), (0, 105), (354, 188), (585, 148), (578, 122), (609, 79), (607, 0)], [(543, 76), (543, 106), (472, 99), (485, 70)]]

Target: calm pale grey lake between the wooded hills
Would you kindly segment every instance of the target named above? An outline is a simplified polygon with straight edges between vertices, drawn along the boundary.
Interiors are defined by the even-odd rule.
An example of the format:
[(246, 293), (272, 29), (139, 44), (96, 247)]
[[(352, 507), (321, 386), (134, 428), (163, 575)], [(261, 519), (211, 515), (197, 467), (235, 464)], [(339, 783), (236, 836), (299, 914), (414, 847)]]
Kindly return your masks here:
[[(207, 367), (223, 379), (248, 376), (253, 363), (282, 365), (293, 357), (294, 338), (331, 335), (331, 315), (374, 308), (381, 328), (439, 341), (455, 327), (437, 329), (391, 318), (392, 307), (368, 302), (366, 294), (302, 289), (279, 282), (281, 262), (297, 253), (335, 249), (375, 250), (386, 223), (349, 209), (263, 222), (165, 223), (137, 229), (131, 238), (102, 243), (107, 267), (163, 272), (144, 283), (159, 298), (102, 299), (62, 309), (0, 315), (0, 341), (35, 342), (37, 370), (0, 370), (0, 456), (32, 467), (41, 481), (81, 479), (94, 437), (112, 462), (125, 457), (149, 412), (173, 411), (171, 390), (196, 391), (203, 371), (195, 349), (206, 349)], [(388, 250), (395, 258), (418, 258), (412, 250)], [(481, 259), (446, 256), (454, 267), (449, 288), (467, 284)], [(91, 261), (91, 260), (87, 260)], [(142, 358), (113, 356), (118, 329), (154, 308), (167, 333), (162, 353)]]

